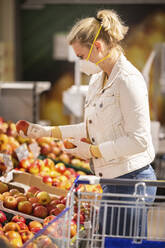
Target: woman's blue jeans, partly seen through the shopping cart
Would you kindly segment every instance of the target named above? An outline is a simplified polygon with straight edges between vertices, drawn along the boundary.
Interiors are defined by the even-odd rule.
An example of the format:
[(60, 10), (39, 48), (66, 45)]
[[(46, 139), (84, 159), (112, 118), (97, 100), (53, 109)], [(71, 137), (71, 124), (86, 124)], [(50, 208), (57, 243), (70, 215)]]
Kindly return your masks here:
[[(118, 179), (156, 180), (156, 176), (152, 166), (148, 165), (142, 169), (120, 176)], [(129, 196), (118, 196), (118, 194), (133, 195), (135, 192), (135, 187), (123, 185), (102, 185), (102, 189), (104, 194), (99, 210), (99, 233), (102, 234), (104, 232), (107, 235), (120, 235), (123, 237), (146, 236), (147, 207), (144, 207), (144, 205), (143, 208), (136, 207), (136, 197), (132, 198)], [(156, 190), (156, 187), (153, 186), (146, 187), (147, 195), (152, 196), (152, 198), (145, 198), (145, 202), (154, 201)], [(143, 194), (143, 191), (143, 187), (138, 187), (138, 194)], [(114, 194), (114, 197), (106, 196), (105, 193), (112, 193)], [(104, 201), (106, 200), (107, 202), (104, 205)], [(103, 229), (103, 222), (105, 223), (105, 229)]]

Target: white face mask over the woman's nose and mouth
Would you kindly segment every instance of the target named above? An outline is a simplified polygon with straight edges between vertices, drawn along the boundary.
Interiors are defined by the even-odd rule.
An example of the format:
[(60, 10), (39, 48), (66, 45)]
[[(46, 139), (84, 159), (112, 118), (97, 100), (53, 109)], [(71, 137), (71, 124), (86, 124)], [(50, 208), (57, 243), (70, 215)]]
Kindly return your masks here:
[(98, 65), (90, 62), (89, 60), (80, 60), (80, 71), (90, 76), (101, 72), (102, 69)]

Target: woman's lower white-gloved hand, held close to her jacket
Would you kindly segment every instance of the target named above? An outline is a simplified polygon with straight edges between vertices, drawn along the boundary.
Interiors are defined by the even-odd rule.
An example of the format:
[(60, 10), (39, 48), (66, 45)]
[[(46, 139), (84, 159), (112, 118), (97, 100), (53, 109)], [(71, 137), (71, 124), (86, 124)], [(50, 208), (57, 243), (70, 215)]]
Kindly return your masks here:
[(63, 148), (63, 150), (66, 153), (69, 153), (73, 156), (82, 158), (82, 159), (90, 159), (92, 157), (91, 152), (90, 152), (90, 144), (80, 141), (80, 140), (75, 140), (75, 139), (68, 139), (70, 143), (75, 145), (75, 148), (72, 149), (66, 149)]

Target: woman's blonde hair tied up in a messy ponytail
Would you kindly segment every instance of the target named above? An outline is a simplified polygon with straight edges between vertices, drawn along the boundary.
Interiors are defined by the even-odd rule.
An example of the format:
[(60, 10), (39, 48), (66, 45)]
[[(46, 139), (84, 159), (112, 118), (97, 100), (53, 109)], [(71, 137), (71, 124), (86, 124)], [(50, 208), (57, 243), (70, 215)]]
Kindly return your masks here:
[(102, 28), (97, 39), (102, 39), (109, 47), (118, 45), (128, 31), (128, 27), (123, 24), (115, 11), (100, 10), (96, 18), (82, 19), (73, 26), (67, 37), (68, 43), (72, 45), (75, 41), (79, 41), (82, 45), (90, 47), (100, 25)]

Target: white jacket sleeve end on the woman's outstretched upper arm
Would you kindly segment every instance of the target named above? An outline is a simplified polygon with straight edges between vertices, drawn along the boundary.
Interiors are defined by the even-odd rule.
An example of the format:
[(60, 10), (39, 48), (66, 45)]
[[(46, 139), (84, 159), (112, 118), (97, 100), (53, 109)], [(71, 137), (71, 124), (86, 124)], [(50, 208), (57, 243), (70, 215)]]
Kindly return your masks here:
[(80, 124), (59, 126), (59, 128), (62, 134), (62, 139), (81, 139), (87, 137), (86, 126), (83, 122)]

